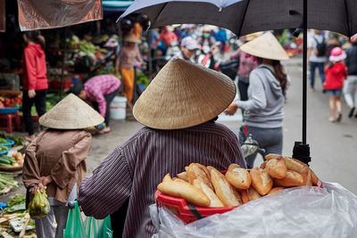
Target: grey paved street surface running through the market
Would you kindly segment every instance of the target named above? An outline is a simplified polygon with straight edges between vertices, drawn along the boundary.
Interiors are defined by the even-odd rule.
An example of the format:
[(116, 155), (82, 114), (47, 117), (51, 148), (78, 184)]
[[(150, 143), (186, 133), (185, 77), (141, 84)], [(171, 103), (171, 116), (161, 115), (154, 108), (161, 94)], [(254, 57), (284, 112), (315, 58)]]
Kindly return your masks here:
[[(284, 154), (291, 155), (294, 142), (302, 134), (302, 61), (293, 59), (286, 63), (292, 85), (287, 92), (286, 119), (284, 127)], [(321, 93), (320, 82), (317, 91), (309, 91), (308, 143), (311, 144), (311, 168), (324, 181), (338, 182), (357, 194), (357, 119), (345, 118), (339, 124), (328, 122), (328, 95)], [(228, 127), (239, 127), (241, 115), (233, 118), (223, 116), (220, 121)], [(137, 122), (115, 122), (112, 133), (95, 136), (92, 152), (87, 159), (88, 172), (104, 159), (105, 155), (120, 142), (129, 138), (141, 127)], [(259, 161), (259, 160), (258, 160)]]

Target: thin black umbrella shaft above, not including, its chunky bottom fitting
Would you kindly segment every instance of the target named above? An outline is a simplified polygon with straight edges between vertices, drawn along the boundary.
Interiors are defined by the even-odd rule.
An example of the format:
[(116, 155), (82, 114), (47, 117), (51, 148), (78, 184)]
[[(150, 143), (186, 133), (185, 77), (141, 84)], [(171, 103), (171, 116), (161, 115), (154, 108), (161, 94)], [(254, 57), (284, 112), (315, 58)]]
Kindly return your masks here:
[(307, 0), (303, 0), (303, 144), (307, 124)]

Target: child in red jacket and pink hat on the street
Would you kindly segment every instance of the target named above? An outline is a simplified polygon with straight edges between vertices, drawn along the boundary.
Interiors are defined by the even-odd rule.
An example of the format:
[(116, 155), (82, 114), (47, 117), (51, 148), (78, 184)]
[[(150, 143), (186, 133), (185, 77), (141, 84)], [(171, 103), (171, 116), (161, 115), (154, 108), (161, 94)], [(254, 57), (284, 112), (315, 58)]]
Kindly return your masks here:
[(347, 78), (345, 58), (346, 54), (341, 47), (333, 48), (329, 56), (329, 63), (325, 69), (326, 81), (324, 89), (329, 94), (328, 120), (330, 122), (339, 122), (342, 119), (341, 94), (344, 87), (344, 79)]

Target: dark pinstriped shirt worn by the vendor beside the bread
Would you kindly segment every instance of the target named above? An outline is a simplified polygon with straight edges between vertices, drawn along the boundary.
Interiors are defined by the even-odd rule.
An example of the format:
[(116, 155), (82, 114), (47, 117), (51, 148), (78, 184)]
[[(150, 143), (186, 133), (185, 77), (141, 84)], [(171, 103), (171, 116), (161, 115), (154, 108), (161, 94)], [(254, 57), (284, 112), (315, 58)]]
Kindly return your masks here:
[(83, 181), (79, 204), (87, 216), (103, 218), (130, 197), (123, 237), (151, 237), (148, 207), (156, 186), (165, 174), (175, 176), (192, 162), (218, 169), (236, 162), (245, 168), (237, 136), (228, 127), (214, 122), (179, 130), (144, 127)]

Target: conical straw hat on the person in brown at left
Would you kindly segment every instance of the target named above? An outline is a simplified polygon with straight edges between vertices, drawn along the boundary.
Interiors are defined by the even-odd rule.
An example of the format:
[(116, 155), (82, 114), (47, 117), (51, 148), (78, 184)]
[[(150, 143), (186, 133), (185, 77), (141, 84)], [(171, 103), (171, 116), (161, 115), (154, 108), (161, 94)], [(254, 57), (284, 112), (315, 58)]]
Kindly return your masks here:
[(104, 122), (104, 118), (74, 94), (69, 94), (53, 109), (39, 118), (44, 127), (54, 129), (84, 129)]

